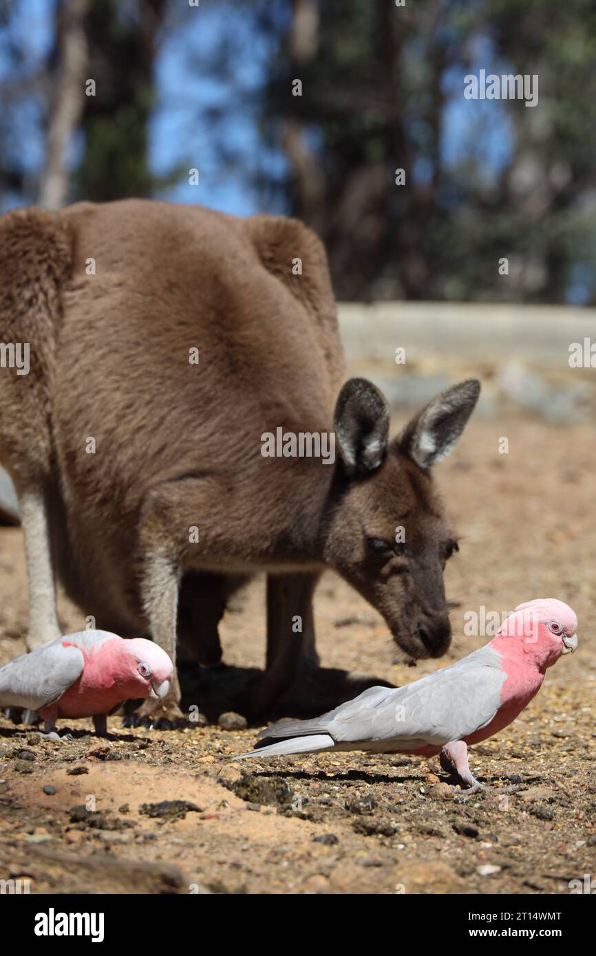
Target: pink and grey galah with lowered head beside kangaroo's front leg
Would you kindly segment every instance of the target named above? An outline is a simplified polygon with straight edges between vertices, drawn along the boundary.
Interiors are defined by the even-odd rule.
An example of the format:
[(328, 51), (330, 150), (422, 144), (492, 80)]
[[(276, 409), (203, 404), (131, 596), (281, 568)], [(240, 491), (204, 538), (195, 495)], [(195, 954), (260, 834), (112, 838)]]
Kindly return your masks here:
[(104, 734), (122, 701), (165, 697), (172, 676), (166, 651), (152, 641), (77, 631), (0, 667), (0, 706), (38, 710), (53, 737), (58, 717), (93, 717)]

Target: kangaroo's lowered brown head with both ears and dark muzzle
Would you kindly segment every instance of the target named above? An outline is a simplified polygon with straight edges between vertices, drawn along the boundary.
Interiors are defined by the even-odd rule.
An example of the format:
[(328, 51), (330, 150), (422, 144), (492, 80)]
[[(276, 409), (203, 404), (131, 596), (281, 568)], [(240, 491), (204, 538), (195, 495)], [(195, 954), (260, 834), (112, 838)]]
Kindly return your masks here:
[(457, 542), (430, 470), (455, 445), (479, 391), (476, 380), (453, 385), (391, 441), (386, 400), (371, 382), (347, 381), (336, 405), (341, 456), (325, 559), (413, 658), (440, 657), (451, 641), (443, 572)]

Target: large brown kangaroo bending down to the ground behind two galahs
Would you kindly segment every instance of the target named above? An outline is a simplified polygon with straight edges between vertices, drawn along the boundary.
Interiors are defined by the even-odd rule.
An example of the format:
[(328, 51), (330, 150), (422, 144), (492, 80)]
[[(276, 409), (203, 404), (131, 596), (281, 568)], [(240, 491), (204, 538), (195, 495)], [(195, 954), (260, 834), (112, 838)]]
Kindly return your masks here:
[[(318, 666), (312, 598), (333, 568), (412, 658), (445, 653), (457, 546), (431, 468), (479, 383), (389, 439), (381, 392), (345, 381), (310, 229), (144, 200), (11, 211), (0, 339), (29, 349), (28, 374), (0, 368), (0, 462), (25, 534), (30, 650), (60, 633), (57, 576), (98, 627), (217, 664), (230, 597), (264, 572), (266, 668), (247, 698), (264, 713)], [(326, 436), (326, 457), (288, 435)], [(179, 702), (174, 680), (139, 717), (172, 726)]]

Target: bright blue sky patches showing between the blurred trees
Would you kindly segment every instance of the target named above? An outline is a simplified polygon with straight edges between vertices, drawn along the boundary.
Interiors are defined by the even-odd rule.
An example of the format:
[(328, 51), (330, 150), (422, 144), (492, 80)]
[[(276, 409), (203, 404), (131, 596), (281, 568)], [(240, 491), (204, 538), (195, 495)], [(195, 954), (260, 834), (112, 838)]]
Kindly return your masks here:
[[(180, 14), (181, 25), (166, 37), (156, 62), (158, 106), (150, 128), (149, 162), (155, 173), (166, 175), (182, 164), (183, 168), (199, 169), (198, 186), (188, 185), (188, 177), (164, 190), (160, 198), (178, 203), (202, 203), (206, 206), (248, 215), (263, 210), (259, 196), (243, 170), (265, 168), (282, 176), (285, 159), (281, 150), (266, 150), (260, 139), (257, 118), (251, 106), (251, 92), (258, 91), (268, 61), (275, 53), (262, 35), (255, 34), (251, 18), (241, 9), (233, 11), (226, 4), (204, 2), (199, 8), (188, 8)], [(223, 36), (233, 31), (234, 42), (243, 55), (235, 64), (233, 82), (218, 81), (202, 68)], [(28, 0), (15, 5), (11, 31), (16, 32), (27, 55), (27, 72), (48, 53), (52, 43), (53, 4), (49, 0)], [(6, 36), (0, 31), (0, 77), (10, 75), (5, 48)], [(244, 51), (249, 52), (247, 55)], [(486, 45), (477, 50), (478, 61), (486, 65), (490, 50)], [(463, 76), (453, 71), (444, 79), (448, 104), (443, 124), (442, 151), (448, 163), (456, 165), (462, 158), (483, 159), (487, 185), (507, 163), (512, 148), (512, 131), (504, 110), (495, 103), (464, 100)], [(203, 111), (222, 105), (228, 111), (225, 138), (232, 150), (242, 157), (242, 168), (221, 168), (210, 141), (209, 122)], [(489, 114), (490, 111), (490, 114)], [(20, 106), (11, 130), (13, 148), (21, 162), (35, 174), (43, 161), (44, 140), (38, 101), (33, 96), (25, 107)], [(73, 144), (71, 160), (77, 157)], [(412, 174), (424, 180), (429, 169), (416, 163)], [(22, 202), (12, 196), (6, 206)]]

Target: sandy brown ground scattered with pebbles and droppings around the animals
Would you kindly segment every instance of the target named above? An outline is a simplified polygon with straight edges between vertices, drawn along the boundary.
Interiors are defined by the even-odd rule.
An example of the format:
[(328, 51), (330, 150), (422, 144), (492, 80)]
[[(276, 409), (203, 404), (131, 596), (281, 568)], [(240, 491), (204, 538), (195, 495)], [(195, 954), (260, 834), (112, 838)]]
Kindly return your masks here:
[[(593, 876), (595, 463), (588, 425), (470, 424), (437, 468), (461, 535), (447, 574), (453, 646), (441, 662), (408, 666), (336, 576), (316, 597), (322, 663), (393, 684), (488, 640), (463, 634), (480, 605), (501, 614), (532, 597), (570, 603), (577, 653), (549, 671), (512, 727), (471, 751), (480, 779), (519, 782), (517, 793), (460, 802), (436, 760), (395, 755), (230, 764), (254, 728), (122, 730), (111, 718), (108, 741), (78, 721), (72, 741), (55, 743), (0, 717), (0, 879), (30, 880), (32, 893), (541, 894)], [(263, 582), (240, 603), (223, 622), (225, 659), (260, 667)], [(65, 600), (60, 613), (65, 630), (84, 626)], [(0, 663), (24, 650), (26, 625), (22, 534), (0, 529)]]

